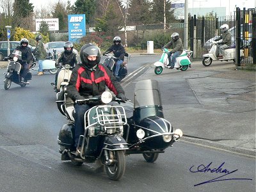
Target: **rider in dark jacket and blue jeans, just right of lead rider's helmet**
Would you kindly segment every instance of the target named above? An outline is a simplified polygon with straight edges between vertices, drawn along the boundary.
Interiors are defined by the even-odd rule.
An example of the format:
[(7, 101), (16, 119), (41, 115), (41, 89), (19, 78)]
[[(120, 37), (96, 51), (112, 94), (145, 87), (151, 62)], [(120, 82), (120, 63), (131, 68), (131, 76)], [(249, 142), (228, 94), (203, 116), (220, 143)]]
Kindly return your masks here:
[(113, 38), (113, 45), (109, 47), (107, 51), (103, 53), (103, 55), (108, 54), (109, 52), (113, 52), (114, 56), (118, 58), (116, 61), (116, 68), (114, 72), (114, 76), (118, 78), (118, 72), (120, 69), (120, 65), (124, 62), (124, 56), (125, 56), (125, 49), (124, 46), (121, 44), (121, 38), (120, 36), (115, 36)]

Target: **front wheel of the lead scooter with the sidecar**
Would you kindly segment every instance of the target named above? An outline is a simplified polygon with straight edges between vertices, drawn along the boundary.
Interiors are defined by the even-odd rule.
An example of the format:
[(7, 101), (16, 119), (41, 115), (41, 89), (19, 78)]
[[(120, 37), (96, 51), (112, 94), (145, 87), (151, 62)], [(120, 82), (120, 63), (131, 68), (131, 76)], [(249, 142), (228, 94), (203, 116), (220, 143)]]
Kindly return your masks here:
[(113, 151), (113, 157), (114, 162), (109, 166), (105, 166), (105, 169), (109, 179), (119, 180), (125, 172), (124, 152), (122, 150)]

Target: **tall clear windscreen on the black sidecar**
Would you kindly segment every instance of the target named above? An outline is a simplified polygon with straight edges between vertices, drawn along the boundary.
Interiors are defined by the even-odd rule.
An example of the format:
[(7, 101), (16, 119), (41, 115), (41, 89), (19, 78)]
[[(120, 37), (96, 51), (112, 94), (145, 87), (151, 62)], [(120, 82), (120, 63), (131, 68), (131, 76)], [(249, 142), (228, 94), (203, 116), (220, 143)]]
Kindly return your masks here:
[(146, 79), (136, 83), (134, 93), (134, 109), (144, 106), (162, 106), (158, 82)]

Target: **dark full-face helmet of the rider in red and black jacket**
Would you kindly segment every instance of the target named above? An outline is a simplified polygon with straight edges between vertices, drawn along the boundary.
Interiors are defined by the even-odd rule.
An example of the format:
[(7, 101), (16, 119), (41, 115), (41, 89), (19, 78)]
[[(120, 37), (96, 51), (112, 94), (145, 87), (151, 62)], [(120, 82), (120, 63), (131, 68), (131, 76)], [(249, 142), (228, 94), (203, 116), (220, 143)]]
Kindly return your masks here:
[[(88, 56), (96, 56), (97, 59), (95, 61), (89, 61)], [(95, 44), (85, 44), (81, 48), (80, 58), (84, 65), (88, 65), (88, 67), (94, 67), (96, 64), (100, 62), (100, 49)]]

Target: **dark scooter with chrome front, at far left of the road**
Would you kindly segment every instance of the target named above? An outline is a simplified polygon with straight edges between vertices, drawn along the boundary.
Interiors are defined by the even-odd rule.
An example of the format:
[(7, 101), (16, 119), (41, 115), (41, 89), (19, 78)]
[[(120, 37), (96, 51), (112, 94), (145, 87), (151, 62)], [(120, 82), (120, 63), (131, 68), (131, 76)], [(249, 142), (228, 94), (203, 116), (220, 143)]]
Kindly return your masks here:
[(22, 70), (22, 65), (19, 63), (19, 61), (22, 60), (21, 55), (22, 52), (15, 49), (10, 56), (4, 58), (5, 60), (11, 60), (10, 63), (8, 63), (7, 72), (4, 73), (5, 90), (8, 90), (11, 87), (12, 82), (24, 87), (29, 84), (28, 80), (32, 79), (31, 72), (28, 72), (24, 81), (21, 81), (20, 72)]

